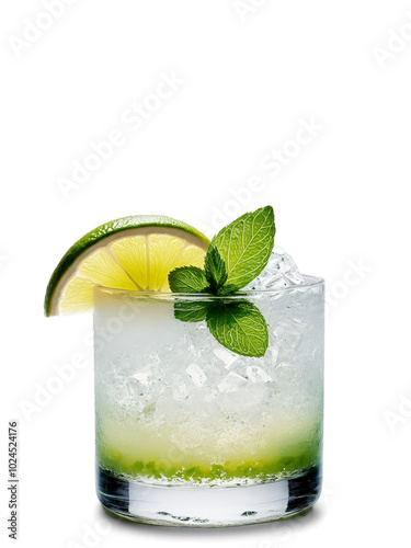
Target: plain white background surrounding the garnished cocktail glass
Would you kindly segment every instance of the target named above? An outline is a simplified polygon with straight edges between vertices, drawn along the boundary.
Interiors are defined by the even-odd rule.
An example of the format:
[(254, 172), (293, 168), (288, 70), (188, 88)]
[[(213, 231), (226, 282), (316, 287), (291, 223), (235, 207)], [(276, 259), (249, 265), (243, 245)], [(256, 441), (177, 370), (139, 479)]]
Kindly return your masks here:
[[(2, 538), (16, 418), (24, 547), (406, 546), (411, 3), (67, 0), (52, 21), (44, 3), (0, 8)], [(164, 73), (183, 82), (159, 103)], [(138, 128), (134, 103), (152, 109)], [(320, 126), (310, 142), (289, 144), (306, 123)], [(113, 130), (122, 146), (65, 195), (60, 178)], [(283, 149), (294, 157), (267, 169)], [(243, 191), (250, 178), (258, 192)], [(261, 526), (113, 521), (94, 494), (91, 318), (45, 319), (47, 281), (104, 221), (164, 214), (210, 236), (221, 214), (266, 204), (277, 243), (328, 282), (323, 495), (305, 517)], [(73, 359), (72, 381), (24, 412)]]

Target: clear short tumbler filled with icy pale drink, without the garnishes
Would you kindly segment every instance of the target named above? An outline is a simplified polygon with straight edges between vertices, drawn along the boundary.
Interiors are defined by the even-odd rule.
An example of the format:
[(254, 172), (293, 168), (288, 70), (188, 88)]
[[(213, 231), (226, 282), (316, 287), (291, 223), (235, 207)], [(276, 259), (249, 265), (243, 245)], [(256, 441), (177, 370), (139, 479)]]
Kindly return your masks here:
[[(219, 344), (181, 302), (247, 298), (264, 357)], [(242, 296), (95, 289), (96, 489), (123, 517), (226, 526), (300, 513), (321, 489), (324, 284)]]

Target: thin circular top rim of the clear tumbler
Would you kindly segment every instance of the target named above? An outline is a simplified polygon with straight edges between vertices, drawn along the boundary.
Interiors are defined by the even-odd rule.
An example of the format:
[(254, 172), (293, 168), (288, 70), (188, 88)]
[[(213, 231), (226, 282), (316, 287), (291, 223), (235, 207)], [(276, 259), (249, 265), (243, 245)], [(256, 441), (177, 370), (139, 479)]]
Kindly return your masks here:
[(115, 287), (105, 287), (101, 285), (96, 285), (94, 290), (109, 294), (109, 295), (124, 295), (124, 296), (133, 296), (135, 298), (147, 298), (147, 297), (156, 297), (157, 299), (184, 299), (184, 300), (231, 300), (231, 299), (241, 299), (244, 297), (258, 297), (263, 295), (277, 295), (285, 294), (288, 292), (299, 290), (299, 289), (308, 289), (316, 287), (323, 287), (326, 284), (324, 278), (319, 276), (311, 276), (308, 274), (301, 274), (305, 279), (304, 284), (296, 284), (289, 287), (279, 287), (275, 289), (247, 289), (239, 292), (235, 295), (213, 295), (210, 293), (171, 293), (171, 292), (147, 292), (147, 290), (138, 290), (138, 289), (117, 289)]

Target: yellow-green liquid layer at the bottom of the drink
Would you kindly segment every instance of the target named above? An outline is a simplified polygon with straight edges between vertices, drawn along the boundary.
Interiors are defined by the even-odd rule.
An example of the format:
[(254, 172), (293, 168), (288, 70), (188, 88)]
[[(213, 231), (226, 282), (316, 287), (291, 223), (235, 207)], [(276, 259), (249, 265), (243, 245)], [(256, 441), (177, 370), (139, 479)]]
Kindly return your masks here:
[[(293, 431), (267, 432), (264, 429), (253, 438), (224, 441), (215, 435), (207, 443), (194, 444), (187, 449), (176, 447), (170, 436), (159, 433), (145, 435), (144, 430), (106, 425), (98, 429), (98, 464), (116, 475), (144, 481), (232, 481), (238, 478), (264, 481), (290, 476), (317, 466), (321, 459), (321, 423), (299, 424)], [(172, 426), (170, 426), (170, 430)], [(187, 433), (189, 434), (189, 433)]]

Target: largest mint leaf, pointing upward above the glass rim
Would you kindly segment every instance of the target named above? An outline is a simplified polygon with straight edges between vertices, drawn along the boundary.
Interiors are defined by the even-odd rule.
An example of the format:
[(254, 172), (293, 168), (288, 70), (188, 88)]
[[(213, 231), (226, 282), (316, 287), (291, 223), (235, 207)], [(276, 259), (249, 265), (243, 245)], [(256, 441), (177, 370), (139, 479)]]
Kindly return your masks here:
[(271, 206), (247, 213), (222, 228), (212, 240), (221, 255), (228, 277), (238, 289), (265, 267), (274, 247), (275, 222)]

